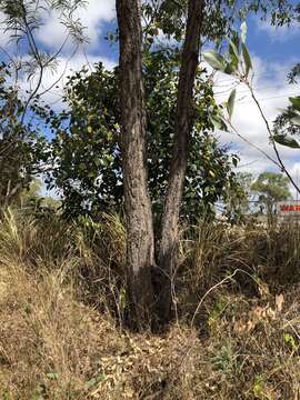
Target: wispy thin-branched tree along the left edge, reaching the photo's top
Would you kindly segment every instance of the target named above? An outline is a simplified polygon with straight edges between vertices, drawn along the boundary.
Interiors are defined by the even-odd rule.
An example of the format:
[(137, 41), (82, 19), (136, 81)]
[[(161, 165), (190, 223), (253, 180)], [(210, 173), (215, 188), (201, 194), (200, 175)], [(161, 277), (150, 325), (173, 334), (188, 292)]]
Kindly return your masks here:
[[(33, 176), (41, 171), (44, 161), (44, 144), (40, 129), (49, 107), (40, 97), (51, 88), (44, 88), (47, 70), (53, 70), (67, 41), (83, 41), (83, 27), (76, 19), (74, 11), (84, 0), (1, 0), (1, 26), (10, 34), (10, 46), (0, 48), (0, 206), (7, 206), (27, 188)], [(60, 21), (67, 28), (67, 37), (53, 53), (38, 46), (37, 30), (44, 23), (44, 13), (58, 11)], [(13, 46), (14, 44), (14, 46)], [(21, 90), (21, 83), (29, 83), (29, 90)], [(43, 121), (42, 121), (43, 123)]]

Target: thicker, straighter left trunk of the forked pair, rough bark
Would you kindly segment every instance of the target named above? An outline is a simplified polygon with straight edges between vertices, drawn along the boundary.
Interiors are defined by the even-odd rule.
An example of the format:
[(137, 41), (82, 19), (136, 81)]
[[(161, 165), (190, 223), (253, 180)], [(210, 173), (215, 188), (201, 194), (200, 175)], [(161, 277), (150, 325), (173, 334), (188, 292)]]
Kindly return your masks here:
[(146, 160), (140, 1), (117, 0), (117, 14), (120, 34), (121, 151), (130, 319), (136, 328), (142, 329), (149, 327), (152, 318), (154, 234)]

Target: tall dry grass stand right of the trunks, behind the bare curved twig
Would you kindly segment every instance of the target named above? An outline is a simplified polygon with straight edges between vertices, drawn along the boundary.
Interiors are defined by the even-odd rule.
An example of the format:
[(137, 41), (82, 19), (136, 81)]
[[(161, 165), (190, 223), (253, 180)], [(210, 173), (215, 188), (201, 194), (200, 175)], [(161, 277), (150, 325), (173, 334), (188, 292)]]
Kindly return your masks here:
[(199, 220), (183, 231), (181, 266), (172, 277), (177, 311), (189, 320), (201, 297), (236, 270), (234, 292), (259, 296), (258, 281), (271, 291), (300, 281), (299, 223), (230, 227)]

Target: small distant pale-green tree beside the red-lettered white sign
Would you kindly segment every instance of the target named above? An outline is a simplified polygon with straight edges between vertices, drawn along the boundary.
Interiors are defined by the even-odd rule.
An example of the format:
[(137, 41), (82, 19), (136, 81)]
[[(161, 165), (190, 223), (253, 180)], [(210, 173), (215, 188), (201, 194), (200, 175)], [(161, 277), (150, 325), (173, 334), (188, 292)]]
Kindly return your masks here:
[(282, 173), (262, 172), (252, 183), (251, 190), (258, 194), (259, 201), (266, 207), (267, 213), (270, 216), (278, 201), (291, 197), (289, 183), (289, 178)]

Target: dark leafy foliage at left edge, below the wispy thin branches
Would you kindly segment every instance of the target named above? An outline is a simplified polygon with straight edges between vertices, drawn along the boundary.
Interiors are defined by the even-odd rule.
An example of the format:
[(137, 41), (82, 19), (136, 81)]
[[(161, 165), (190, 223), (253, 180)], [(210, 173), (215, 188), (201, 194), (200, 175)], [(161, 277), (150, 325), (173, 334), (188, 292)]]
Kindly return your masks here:
[(29, 108), (32, 121), (21, 121), (26, 102), (10, 84), (11, 68), (0, 66), (0, 207), (19, 200), (32, 177), (41, 171), (46, 141), (40, 134), (36, 102)]

